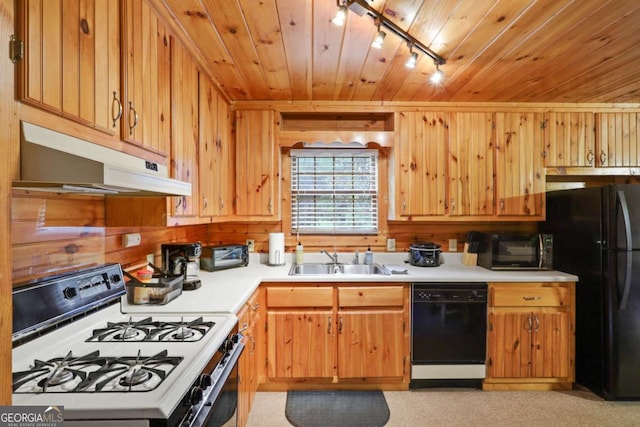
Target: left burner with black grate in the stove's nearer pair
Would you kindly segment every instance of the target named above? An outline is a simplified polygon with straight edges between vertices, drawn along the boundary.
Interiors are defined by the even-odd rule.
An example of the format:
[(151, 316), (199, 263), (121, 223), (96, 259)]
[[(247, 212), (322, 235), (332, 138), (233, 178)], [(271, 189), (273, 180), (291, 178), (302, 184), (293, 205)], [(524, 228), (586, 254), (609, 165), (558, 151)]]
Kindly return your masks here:
[(72, 352), (48, 361), (35, 360), (32, 369), (13, 373), (14, 393), (67, 392), (87, 378), (89, 372), (107, 364), (97, 351), (81, 357)]

